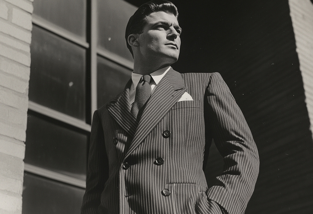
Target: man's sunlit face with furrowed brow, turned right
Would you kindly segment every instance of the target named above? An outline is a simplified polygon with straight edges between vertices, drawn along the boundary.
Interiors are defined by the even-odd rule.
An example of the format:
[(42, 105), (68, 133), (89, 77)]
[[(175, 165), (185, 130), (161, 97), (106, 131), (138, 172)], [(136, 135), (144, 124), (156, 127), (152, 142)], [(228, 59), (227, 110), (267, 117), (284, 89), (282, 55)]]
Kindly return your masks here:
[(138, 35), (140, 54), (147, 60), (175, 63), (180, 51), (180, 33), (174, 14), (154, 12), (146, 17), (143, 33)]

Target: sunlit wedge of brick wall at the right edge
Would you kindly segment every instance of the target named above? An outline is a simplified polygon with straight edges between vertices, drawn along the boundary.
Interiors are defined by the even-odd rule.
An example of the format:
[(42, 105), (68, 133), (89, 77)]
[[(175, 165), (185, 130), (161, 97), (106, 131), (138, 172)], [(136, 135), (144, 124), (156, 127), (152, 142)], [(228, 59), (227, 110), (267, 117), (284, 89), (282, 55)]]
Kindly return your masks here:
[(313, 3), (310, 0), (290, 0), (289, 5), (305, 89), (305, 102), (310, 117), (310, 129), (313, 132)]

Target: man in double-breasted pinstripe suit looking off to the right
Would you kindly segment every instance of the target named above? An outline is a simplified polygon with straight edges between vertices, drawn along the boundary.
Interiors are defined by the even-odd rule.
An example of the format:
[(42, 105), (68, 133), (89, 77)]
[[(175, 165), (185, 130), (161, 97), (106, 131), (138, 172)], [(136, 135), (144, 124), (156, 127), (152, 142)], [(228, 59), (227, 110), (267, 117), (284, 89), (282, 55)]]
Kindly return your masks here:
[[(96, 110), (82, 213), (244, 213), (259, 172), (249, 127), (218, 73), (174, 71), (178, 12), (142, 5), (126, 27), (134, 71)], [(212, 138), (224, 159), (208, 188), (203, 163)]]

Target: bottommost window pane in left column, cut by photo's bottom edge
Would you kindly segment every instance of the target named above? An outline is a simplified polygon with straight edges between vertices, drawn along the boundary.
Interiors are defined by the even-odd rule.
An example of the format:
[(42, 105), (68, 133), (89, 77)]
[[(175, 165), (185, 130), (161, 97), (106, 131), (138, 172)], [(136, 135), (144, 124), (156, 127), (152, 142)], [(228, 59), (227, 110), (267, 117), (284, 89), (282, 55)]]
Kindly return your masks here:
[(25, 173), (23, 214), (77, 214), (84, 189)]

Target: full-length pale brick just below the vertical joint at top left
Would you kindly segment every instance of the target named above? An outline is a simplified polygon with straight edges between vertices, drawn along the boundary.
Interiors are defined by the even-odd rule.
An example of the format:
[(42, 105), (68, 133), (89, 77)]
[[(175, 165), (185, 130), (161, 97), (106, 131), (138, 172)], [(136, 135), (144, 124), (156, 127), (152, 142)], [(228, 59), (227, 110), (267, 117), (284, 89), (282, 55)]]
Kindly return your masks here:
[(13, 36), (14, 38), (27, 42), (28, 44), (30, 44), (32, 40), (31, 39), (32, 34), (30, 33), (29, 30), (20, 29), (20, 27), (14, 26), (12, 23), (4, 22), (1, 19), (0, 19), (0, 31), (2, 33)]

